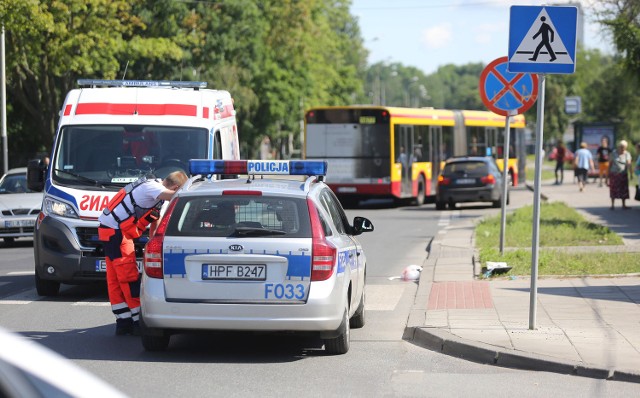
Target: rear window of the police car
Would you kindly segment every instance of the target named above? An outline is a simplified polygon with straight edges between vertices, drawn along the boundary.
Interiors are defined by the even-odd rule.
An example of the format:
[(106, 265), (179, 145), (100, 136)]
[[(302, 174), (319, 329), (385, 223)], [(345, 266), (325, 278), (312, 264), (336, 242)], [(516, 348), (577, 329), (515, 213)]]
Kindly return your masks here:
[(307, 202), (253, 195), (181, 197), (167, 235), (309, 238)]

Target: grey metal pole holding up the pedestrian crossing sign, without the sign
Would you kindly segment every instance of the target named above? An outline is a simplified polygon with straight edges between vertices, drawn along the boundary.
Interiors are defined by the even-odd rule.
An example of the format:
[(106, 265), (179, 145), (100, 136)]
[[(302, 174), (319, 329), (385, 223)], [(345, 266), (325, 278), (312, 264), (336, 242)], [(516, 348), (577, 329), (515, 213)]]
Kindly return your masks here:
[(531, 292), (529, 295), (529, 329), (536, 328), (538, 304), (538, 249), (540, 240), (540, 179), (542, 176), (542, 144), (544, 128), (544, 83), (545, 75), (538, 79), (538, 120), (536, 121), (536, 171), (533, 188), (533, 236), (531, 237)]

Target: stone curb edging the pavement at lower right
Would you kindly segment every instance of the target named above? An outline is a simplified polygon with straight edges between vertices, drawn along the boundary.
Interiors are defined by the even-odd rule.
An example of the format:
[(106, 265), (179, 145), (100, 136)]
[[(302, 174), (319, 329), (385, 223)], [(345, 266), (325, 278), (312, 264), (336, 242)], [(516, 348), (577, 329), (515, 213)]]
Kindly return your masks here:
[(640, 383), (640, 372), (603, 369), (582, 362), (566, 362), (544, 355), (469, 342), (449, 332), (426, 327), (407, 327), (413, 344), (457, 358), (504, 368), (536, 370), (573, 376)]

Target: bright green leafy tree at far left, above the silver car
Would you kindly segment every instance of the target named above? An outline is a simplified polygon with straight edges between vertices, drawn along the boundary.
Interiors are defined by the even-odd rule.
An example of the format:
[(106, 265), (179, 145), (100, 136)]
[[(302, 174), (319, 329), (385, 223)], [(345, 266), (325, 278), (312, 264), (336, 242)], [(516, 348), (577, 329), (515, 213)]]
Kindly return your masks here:
[(113, 79), (120, 60), (181, 59), (171, 40), (138, 34), (131, 13), (141, 1), (68, 0), (0, 2), (6, 29), (10, 145), (16, 162), (49, 151), (64, 95), (78, 78)]

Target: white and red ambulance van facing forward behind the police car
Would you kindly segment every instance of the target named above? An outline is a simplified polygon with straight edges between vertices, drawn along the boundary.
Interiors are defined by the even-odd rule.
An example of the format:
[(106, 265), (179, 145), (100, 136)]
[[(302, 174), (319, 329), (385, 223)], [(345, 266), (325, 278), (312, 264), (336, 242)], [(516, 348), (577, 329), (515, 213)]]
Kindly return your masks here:
[[(188, 173), (189, 159), (239, 159), (229, 92), (205, 82), (78, 80), (60, 111), (46, 165), (31, 161), (28, 184), (44, 191), (34, 228), (35, 284), (105, 280), (98, 216), (116, 192), (143, 176)], [(136, 240), (142, 267), (148, 234)]]

